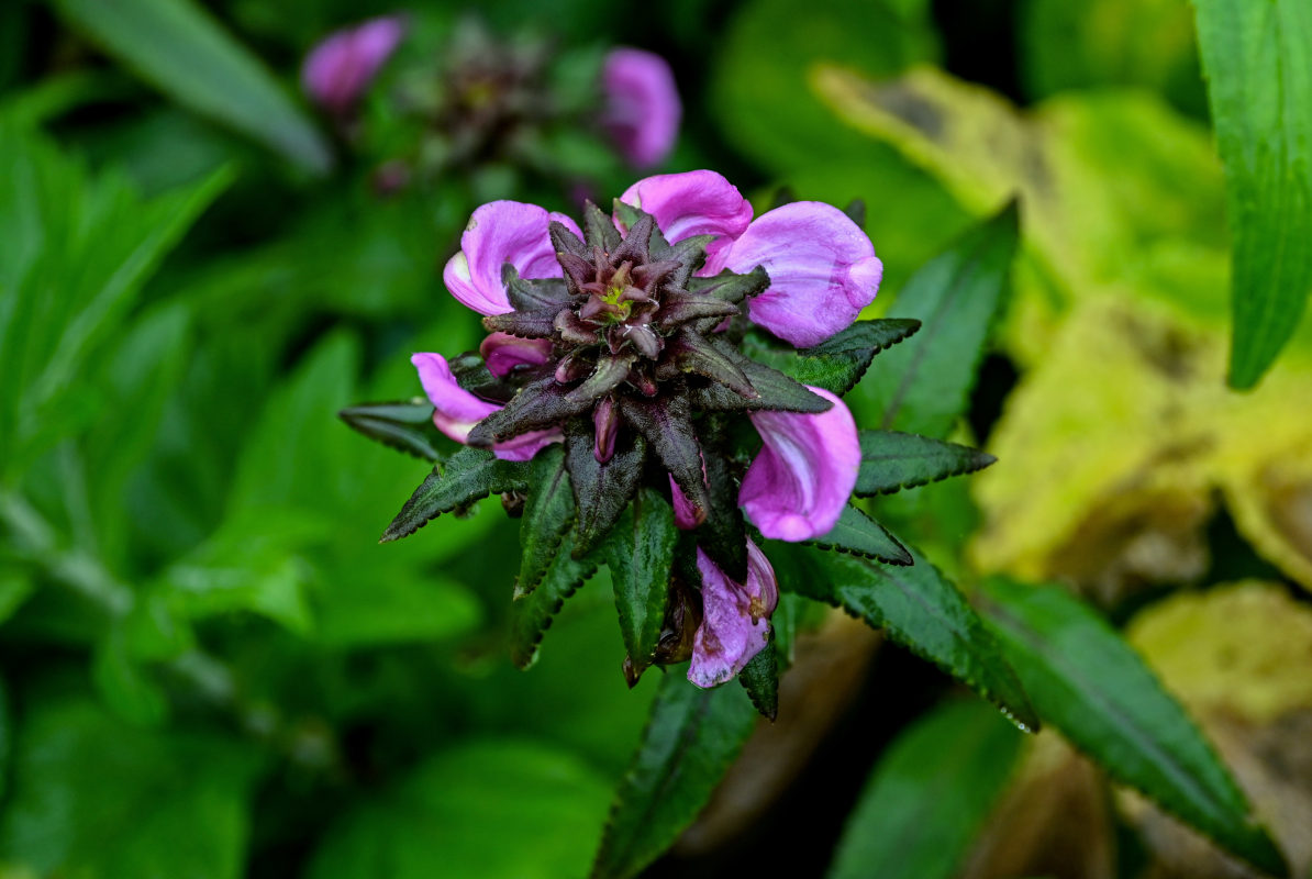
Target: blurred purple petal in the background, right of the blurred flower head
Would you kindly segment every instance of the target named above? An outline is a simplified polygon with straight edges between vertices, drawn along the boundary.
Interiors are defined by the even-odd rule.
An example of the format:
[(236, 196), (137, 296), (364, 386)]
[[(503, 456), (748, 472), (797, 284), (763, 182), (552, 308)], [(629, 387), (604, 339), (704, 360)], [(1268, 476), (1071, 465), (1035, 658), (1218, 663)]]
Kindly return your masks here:
[(640, 49), (617, 49), (606, 55), (601, 87), (606, 93), (601, 122), (625, 159), (638, 168), (664, 161), (684, 112), (665, 59)]

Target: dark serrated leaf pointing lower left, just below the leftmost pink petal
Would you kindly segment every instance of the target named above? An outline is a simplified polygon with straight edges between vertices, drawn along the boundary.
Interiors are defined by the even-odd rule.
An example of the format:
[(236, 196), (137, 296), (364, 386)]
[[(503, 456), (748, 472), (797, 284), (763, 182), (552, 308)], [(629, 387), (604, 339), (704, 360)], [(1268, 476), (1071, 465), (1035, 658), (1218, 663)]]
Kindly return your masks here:
[(383, 531), (380, 542), (409, 537), (442, 513), (492, 493), (522, 491), (526, 483), (527, 467), (523, 463), (501, 460), (484, 449), (461, 449), (449, 460), (433, 467), (433, 472)]

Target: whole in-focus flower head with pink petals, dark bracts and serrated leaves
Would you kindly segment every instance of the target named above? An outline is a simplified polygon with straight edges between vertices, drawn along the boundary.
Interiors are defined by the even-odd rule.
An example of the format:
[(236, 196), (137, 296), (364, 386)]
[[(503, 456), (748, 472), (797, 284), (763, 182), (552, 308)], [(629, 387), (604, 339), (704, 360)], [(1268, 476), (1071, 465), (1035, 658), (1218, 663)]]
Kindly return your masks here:
[[(437, 462), (384, 542), (489, 493), (522, 517), (521, 664), (605, 564), (630, 685), (651, 665), (691, 660), (699, 687), (745, 672), (773, 715), (779, 584), (762, 539), (912, 565), (853, 495), (992, 460), (858, 430), (842, 395), (920, 323), (857, 320), (883, 266), (837, 207), (791, 202), (753, 219), (729, 181), (695, 171), (639, 181), (611, 214), (589, 202), (581, 228), (492, 202), (461, 245), (443, 279), (483, 315), (479, 350), (417, 353), (426, 403), (344, 417)], [(466, 447), (437, 454), (429, 421)]]

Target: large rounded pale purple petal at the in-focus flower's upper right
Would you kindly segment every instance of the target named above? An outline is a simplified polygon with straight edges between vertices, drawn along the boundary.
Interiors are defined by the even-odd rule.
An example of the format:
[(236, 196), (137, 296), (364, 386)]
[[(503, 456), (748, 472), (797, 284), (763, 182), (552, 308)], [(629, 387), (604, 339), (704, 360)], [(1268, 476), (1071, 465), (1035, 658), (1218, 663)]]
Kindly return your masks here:
[(823, 202), (762, 214), (720, 258), (739, 273), (765, 266), (770, 287), (748, 300), (748, 315), (798, 348), (846, 329), (874, 302), (884, 273), (866, 234)]

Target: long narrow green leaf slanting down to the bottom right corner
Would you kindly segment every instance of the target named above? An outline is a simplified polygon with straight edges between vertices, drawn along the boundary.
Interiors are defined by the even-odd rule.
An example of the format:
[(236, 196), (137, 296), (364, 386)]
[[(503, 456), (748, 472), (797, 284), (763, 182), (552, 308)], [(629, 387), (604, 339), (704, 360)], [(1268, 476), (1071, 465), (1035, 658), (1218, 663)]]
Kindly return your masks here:
[(1106, 621), (1059, 586), (993, 579), (984, 594), (1046, 722), (1117, 781), (1266, 872), (1288, 875), (1216, 752)]

